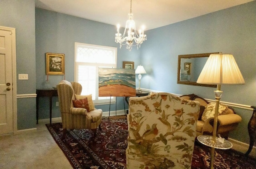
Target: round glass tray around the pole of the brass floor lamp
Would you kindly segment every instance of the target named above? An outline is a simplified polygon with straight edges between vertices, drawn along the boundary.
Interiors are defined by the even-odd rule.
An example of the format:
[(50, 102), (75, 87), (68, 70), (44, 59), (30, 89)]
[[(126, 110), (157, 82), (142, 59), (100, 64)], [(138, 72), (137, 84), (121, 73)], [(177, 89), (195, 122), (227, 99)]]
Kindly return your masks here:
[(200, 143), (216, 149), (230, 149), (233, 146), (232, 143), (221, 137), (216, 137), (214, 140), (212, 135), (199, 135), (197, 139)]

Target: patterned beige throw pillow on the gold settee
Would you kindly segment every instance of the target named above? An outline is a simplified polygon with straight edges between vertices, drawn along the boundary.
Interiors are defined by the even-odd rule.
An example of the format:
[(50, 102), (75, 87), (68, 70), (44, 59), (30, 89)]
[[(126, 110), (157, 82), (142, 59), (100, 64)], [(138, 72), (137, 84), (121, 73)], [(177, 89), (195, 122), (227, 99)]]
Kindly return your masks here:
[[(206, 121), (210, 117), (214, 117), (215, 114), (215, 102), (209, 103), (208, 105), (205, 106), (204, 112), (202, 114), (202, 121)], [(226, 114), (228, 107), (226, 105), (219, 105), (219, 113), (218, 115), (224, 115)]]

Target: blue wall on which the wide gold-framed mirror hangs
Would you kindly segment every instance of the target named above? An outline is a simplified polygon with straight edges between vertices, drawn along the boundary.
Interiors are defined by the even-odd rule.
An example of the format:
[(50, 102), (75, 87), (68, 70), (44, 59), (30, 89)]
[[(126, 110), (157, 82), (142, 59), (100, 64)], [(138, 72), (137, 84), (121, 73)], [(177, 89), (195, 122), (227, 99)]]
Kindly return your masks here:
[[(178, 55), (230, 53), (246, 84), (222, 85), (224, 93), (220, 101), (256, 104), (256, 1), (149, 30), (147, 36), (141, 49), (141, 63), (148, 73), (142, 77), (142, 88), (195, 93), (214, 99), (215, 88), (176, 83)], [(230, 137), (248, 143), (247, 124), (252, 111), (235, 109), (242, 122)]]

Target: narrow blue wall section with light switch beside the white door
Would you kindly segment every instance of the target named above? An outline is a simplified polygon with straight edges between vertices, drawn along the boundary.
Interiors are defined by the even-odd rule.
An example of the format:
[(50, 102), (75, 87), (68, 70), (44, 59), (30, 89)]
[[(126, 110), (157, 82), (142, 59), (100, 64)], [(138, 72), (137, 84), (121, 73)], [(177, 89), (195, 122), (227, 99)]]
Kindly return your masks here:
[[(36, 93), (35, 2), (1, 0), (0, 26), (16, 28), (17, 94)], [(28, 74), (28, 80), (18, 80)], [(36, 98), (17, 99), (18, 130), (36, 127)]]

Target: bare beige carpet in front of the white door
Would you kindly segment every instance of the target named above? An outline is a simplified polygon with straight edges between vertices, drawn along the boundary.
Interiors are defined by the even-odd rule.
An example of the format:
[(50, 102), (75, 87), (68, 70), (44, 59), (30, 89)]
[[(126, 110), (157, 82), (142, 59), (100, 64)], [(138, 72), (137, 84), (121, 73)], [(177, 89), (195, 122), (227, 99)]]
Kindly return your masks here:
[[(53, 119), (52, 123), (61, 122)], [(0, 169), (72, 169), (41, 120), (37, 129), (0, 136)]]

